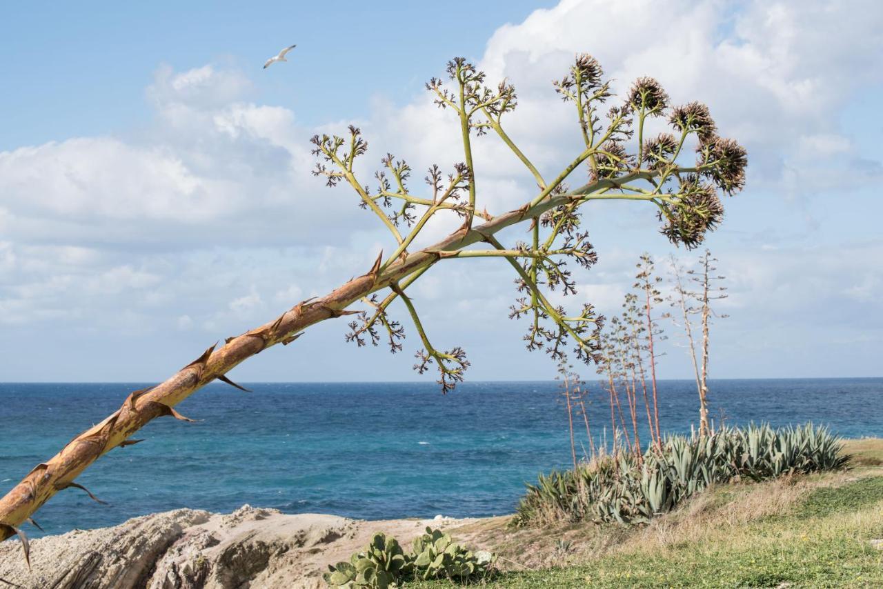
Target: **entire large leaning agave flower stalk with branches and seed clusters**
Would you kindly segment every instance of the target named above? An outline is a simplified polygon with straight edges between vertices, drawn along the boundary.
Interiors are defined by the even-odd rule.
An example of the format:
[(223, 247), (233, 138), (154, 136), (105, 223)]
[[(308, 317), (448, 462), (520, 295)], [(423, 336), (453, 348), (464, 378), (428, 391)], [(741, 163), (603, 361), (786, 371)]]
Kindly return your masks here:
[[(381, 254), (366, 274), (351, 279), (322, 298), (303, 301), (273, 321), (210, 347), (168, 380), (136, 391), (101, 423), (79, 434), (55, 457), (34, 467), (25, 479), (0, 499), (0, 539), (19, 532), (19, 525), (58, 491), (71, 487), (89, 464), (111, 449), (133, 441), (129, 437), (151, 419), (171, 416), (186, 419), (173, 407), (240, 362), (275, 344), (290, 344), (300, 333), (318, 323), (344, 314), (363, 301), (367, 311), (352, 325), (349, 339), (357, 344), (377, 344), (379, 330), (389, 336), (393, 351), (400, 349), (401, 326), (387, 315), (390, 303), (401, 298), (417, 329), (424, 350), (418, 352), (417, 368), (423, 372), (434, 365), (440, 371), (442, 390), (462, 381), (469, 366), (461, 348), (442, 351), (430, 343), (408, 288), (429, 268), (442, 261), (479, 256), (501, 257), (517, 274), (521, 293), (513, 306), (513, 317), (530, 321), (525, 336), (529, 349), (544, 349), (561, 360), (572, 349), (579, 359), (598, 356), (600, 317), (592, 306), (567, 313), (547, 297), (548, 291), (575, 291), (567, 262), (589, 268), (596, 261), (592, 245), (580, 230), (579, 208), (590, 200), (640, 200), (659, 210), (662, 232), (675, 243), (698, 245), (707, 230), (720, 222), (718, 192), (733, 193), (743, 185), (745, 151), (735, 141), (722, 140), (708, 109), (698, 103), (669, 109), (668, 95), (653, 79), (638, 79), (624, 102), (603, 110), (612, 102), (608, 82), (600, 64), (581, 55), (570, 72), (555, 82), (555, 90), (577, 109), (579, 132), (585, 146), (555, 176), (540, 173), (504, 130), (502, 119), (515, 109), (515, 87), (505, 80), (496, 87), (485, 84), (485, 75), (463, 58), (449, 62), (449, 82), (432, 79), (426, 84), (438, 105), (455, 115), (461, 131), (463, 162), (445, 176), (433, 166), (426, 175), (428, 193), (411, 192), (411, 168), (392, 155), (381, 159), (381, 171), (372, 190), (353, 171), (353, 162), (366, 154), (367, 143), (355, 127), (345, 137), (316, 136), (314, 154), (319, 156), (315, 174), (328, 185), (347, 184), (358, 195), (361, 207), (370, 210), (395, 240), (392, 253)], [(668, 116), (673, 135), (644, 140), (648, 117)], [(636, 130), (637, 153), (630, 153)], [(477, 136), (496, 135), (532, 174), (536, 195), (516, 210), (491, 215), (479, 204), (472, 141)], [(689, 155), (694, 146), (698, 157)], [(575, 189), (565, 181), (574, 172), (588, 168), (588, 180)], [(462, 226), (449, 237), (429, 247), (414, 250), (411, 245), (435, 215), (459, 215)], [(482, 223), (483, 222), (483, 223)], [(517, 223), (530, 224), (528, 243), (506, 246), (495, 235)], [(479, 249), (467, 249), (481, 245)], [(383, 291), (384, 298), (373, 298)], [(572, 348), (571, 348), (572, 346)], [(26, 542), (24, 543), (26, 547)]]

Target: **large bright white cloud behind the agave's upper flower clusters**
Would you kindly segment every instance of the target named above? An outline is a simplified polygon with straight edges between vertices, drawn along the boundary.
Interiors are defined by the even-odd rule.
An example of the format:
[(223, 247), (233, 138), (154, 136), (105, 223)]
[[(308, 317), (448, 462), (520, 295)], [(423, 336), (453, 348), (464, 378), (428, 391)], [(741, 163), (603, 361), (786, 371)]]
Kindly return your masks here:
[[(562, 0), (499, 28), (478, 64), (488, 79), (515, 83), (522, 101), (508, 117), (509, 133), (547, 173), (560, 170), (577, 145), (575, 115), (551, 81), (567, 72), (574, 54), (588, 51), (616, 91), (651, 75), (674, 102), (711, 105), (721, 133), (749, 148), (754, 190), (806, 196), (827, 188), (819, 179), (840, 177), (843, 185), (857, 155), (837, 133), (843, 109), (857, 88), (883, 80), (876, 66), (883, 13), (873, 2), (858, 4), (864, 8), (821, 1)], [(862, 40), (860, 51), (853, 39)], [(440, 154), (462, 159), (449, 115), (427, 97), (389, 111), (381, 127), (390, 143), (407, 146), (421, 163)], [(511, 177), (513, 158), (500, 142), (481, 141), (478, 151), (482, 174)], [(819, 159), (830, 155), (849, 157), (831, 161), (833, 170), (819, 178)]]

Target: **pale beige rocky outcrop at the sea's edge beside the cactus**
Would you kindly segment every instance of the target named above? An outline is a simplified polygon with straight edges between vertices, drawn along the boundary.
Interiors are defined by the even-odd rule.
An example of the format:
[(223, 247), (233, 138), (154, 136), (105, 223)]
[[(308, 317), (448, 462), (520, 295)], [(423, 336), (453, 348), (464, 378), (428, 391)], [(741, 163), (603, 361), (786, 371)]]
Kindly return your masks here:
[(32, 540), (32, 570), (18, 540), (4, 541), (0, 579), (27, 589), (321, 587), (328, 564), (348, 558), (374, 532), (404, 543), (426, 525), (465, 521), (471, 520), (366, 522), (248, 505), (226, 515), (174, 510)]

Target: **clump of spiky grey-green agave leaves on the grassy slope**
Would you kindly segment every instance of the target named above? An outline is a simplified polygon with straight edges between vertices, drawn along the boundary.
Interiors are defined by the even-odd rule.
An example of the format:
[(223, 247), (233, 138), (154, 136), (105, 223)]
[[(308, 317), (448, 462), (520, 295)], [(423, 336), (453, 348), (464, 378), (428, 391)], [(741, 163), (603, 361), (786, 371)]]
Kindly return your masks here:
[(576, 471), (540, 475), (536, 485), (527, 486), (512, 523), (643, 523), (713, 483), (840, 469), (849, 461), (841, 450), (840, 438), (811, 423), (672, 435), (643, 457), (602, 456)]

